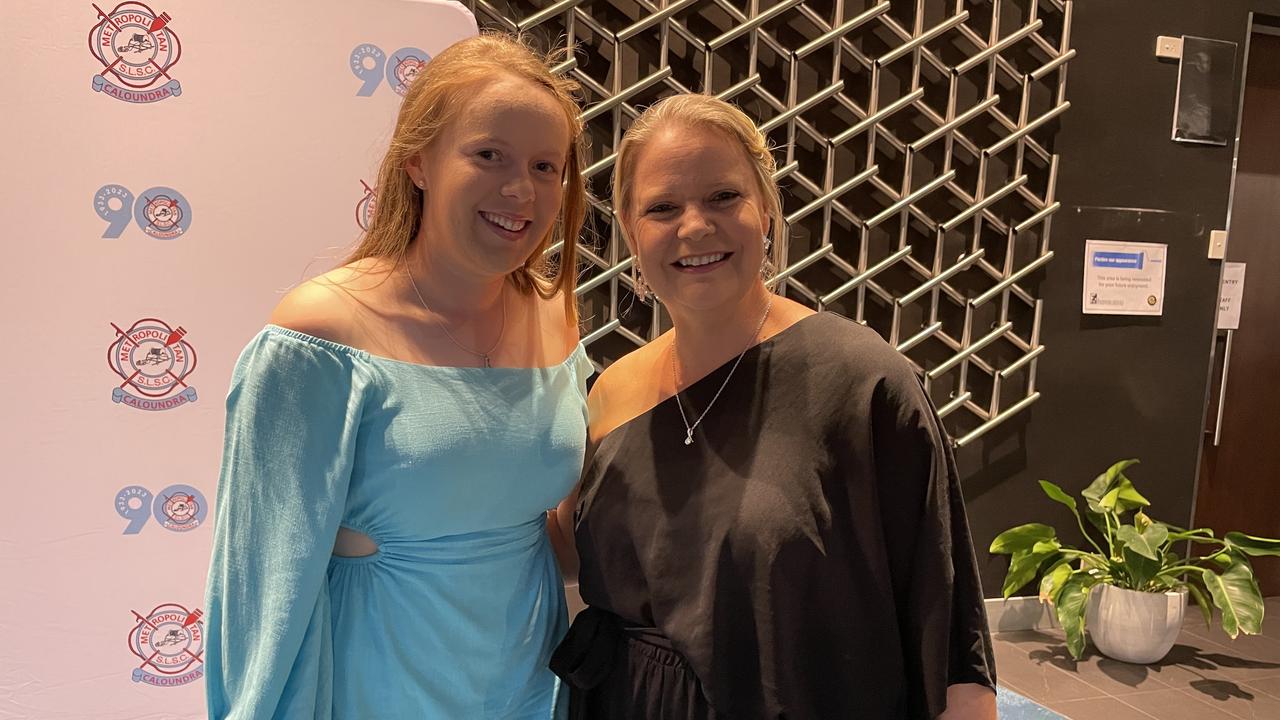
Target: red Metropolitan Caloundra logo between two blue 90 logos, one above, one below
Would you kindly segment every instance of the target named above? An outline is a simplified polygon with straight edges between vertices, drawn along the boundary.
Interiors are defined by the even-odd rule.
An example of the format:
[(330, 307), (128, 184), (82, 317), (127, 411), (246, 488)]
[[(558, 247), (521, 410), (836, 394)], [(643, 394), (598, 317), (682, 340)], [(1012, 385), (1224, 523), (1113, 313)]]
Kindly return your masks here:
[[(115, 341), (106, 348), (106, 364), (123, 380), (111, 389), (111, 401), (136, 410), (172, 410), (196, 401), (187, 378), (196, 369), (196, 351), (187, 331), (164, 320), (143, 318), (129, 329), (111, 323)], [(129, 391), (133, 392), (129, 392)]]

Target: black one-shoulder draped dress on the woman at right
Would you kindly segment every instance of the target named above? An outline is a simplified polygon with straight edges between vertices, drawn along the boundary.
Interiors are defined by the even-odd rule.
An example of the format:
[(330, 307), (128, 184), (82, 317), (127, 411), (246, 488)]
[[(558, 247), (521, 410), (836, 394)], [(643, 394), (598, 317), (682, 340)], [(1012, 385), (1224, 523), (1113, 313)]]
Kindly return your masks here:
[(552, 662), (575, 717), (918, 719), (995, 688), (955, 461), (874, 331), (823, 313), (753, 347), (684, 441), (669, 398), (585, 470), (589, 607)]

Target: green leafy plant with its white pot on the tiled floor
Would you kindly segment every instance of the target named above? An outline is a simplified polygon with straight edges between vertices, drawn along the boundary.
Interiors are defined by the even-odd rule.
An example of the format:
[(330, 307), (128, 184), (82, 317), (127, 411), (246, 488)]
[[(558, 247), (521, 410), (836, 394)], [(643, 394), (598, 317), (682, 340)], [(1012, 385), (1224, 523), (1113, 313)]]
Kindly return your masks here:
[(1000, 533), (991, 552), (1012, 556), (1005, 598), (1039, 578), (1041, 602), (1052, 605), (1076, 660), (1084, 652), (1085, 620), (1103, 655), (1139, 664), (1161, 660), (1178, 638), (1188, 594), (1206, 625), (1216, 607), (1231, 638), (1257, 634), (1263, 602), (1249, 556), (1280, 556), (1280, 541), (1235, 532), (1217, 538), (1208, 528), (1188, 530), (1151, 519), (1144, 511), (1151, 503), (1125, 477), (1137, 462), (1116, 462), (1084, 488), (1083, 512), (1062, 488), (1039, 482), (1044, 495), (1075, 515), (1093, 551), (1062, 544), (1041, 523)]

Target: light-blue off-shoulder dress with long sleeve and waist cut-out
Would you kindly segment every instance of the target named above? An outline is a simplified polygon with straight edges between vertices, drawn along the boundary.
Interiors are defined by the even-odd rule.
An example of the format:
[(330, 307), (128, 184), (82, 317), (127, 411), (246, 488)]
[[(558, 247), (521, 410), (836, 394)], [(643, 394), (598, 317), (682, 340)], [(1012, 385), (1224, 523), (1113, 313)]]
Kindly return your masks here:
[[(548, 368), (440, 368), (259, 333), (227, 400), (209, 716), (562, 717), (545, 511), (581, 470), (590, 373), (581, 345)], [(333, 556), (339, 527), (378, 552)]]

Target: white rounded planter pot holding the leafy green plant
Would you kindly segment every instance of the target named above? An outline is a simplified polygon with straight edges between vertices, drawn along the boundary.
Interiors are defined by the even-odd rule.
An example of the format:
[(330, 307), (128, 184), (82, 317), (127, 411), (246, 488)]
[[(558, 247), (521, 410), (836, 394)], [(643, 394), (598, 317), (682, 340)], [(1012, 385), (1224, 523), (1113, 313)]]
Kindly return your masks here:
[(1102, 655), (1147, 665), (1169, 655), (1183, 628), (1185, 611), (1185, 592), (1151, 593), (1094, 585), (1089, 592), (1085, 626)]

